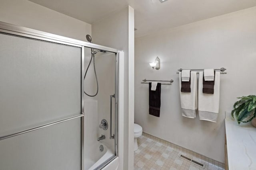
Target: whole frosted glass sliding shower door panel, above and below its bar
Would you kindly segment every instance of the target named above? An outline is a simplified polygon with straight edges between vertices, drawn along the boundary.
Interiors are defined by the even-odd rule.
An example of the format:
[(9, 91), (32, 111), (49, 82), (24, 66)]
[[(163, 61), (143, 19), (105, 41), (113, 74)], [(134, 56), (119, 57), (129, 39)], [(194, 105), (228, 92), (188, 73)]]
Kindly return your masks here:
[(81, 170), (81, 54), (0, 34), (1, 170)]

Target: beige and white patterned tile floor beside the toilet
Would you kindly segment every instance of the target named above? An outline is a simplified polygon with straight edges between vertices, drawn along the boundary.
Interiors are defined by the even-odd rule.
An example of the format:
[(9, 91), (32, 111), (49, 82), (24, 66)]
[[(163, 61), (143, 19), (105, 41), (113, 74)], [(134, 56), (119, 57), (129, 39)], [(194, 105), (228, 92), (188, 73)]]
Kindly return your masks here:
[[(149, 136), (143, 134), (138, 138), (139, 148), (134, 152), (134, 170), (224, 170), (224, 164), (220, 162), (202, 157), (182, 147), (174, 147), (174, 144), (166, 141), (154, 140), (154, 137), (151, 139)], [(179, 154), (205, 164), (205, 168), (180, 158)]]

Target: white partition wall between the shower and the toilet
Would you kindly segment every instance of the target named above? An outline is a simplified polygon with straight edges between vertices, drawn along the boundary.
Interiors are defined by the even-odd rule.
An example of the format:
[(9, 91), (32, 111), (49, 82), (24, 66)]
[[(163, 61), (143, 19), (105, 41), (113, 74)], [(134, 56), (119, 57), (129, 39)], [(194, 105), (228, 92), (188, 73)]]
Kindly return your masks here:
[[(124, 51), (124, 113), (119, 113), (124, 114), (124, 125), (119, 126), (124, 128), (124, 133), (119, 135), (124, 135), (123, 149), (125, 154), (124, 157), (120, 157), (120, 169), (129, 168), (129, 170), (133, 169), (133, 152), (131, 154), (128, 154), (129, 150), (133, 148), (133, 141), (132, 143), (128, 142), (129, 139), (133, 139), (134, 121), (133, 119), (132, 122), (128, 121), (129, 119), (131, 120), (131, 117), (133, 117), (134, 115), (134, 109), (132, 108), (131, 110), (131, 108), (129, 108), (129, 102), (134, 102), (132, 94), (133, 90), (130, 90), (134, 88), (134, 84), (128, 84), (128, 77), (132, 79), (134, 77), (132, 75), (133, 70), (129, 70), (133, 68), (132, 60), (134, 58), (134, 49), (132, 49), (132, 46), (134, 44), (133, 25), (134, 10), (130, 6), (119, 10), (118, 12), (113, 13), (107, 18), (104, 18), (103, 20), (92, 24), (92, 39), (94, 43)], [(100, 68), (101, 66), (98, 65), (97, 67)], [(130, 76), (129, 71), (131, 71)], [(131, 99), (129, 99), (129, 97)], [(106, 114), (108, 114), (108, 112)], [(131, 131), (132, 134), (130, 133)], [(122, 160), (124, 160), (123, 165)]]

